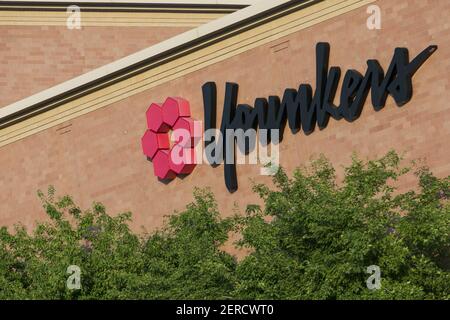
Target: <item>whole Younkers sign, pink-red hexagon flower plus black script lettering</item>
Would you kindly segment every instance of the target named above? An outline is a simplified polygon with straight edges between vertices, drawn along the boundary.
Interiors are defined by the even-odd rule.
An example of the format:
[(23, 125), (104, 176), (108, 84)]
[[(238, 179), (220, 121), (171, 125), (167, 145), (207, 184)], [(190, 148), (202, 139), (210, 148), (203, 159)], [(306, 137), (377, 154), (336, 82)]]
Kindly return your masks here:
[[(196, 159), (195, 154), (203, 153), (208, 164), (224, 164), (225, 185), (228, 191), (234, 192), (238, 188), (236, 163), (240, 162), (236, 162), (236, 158), (240, 154), (248, 155), (258, 146), (258, 151), (263, 150), (262, 154), (258, 152), (258, 158), (265, 159), (260, 163), (273, 165), (271, 159), (275, 158), (276, 167), (279, 164), (278, 143), (283, 140), (286, 125), (292, 133), (302, 130), (308, 135), (316, 125), (324, 129), (330, 118), (355, 121), (361, 115), (369, 91), (376, 111), (384, 108), (389, 95), (397, 106), (403, 106), (412, 98), (413, 75), (436, 50), (437, 46), (428, 46), (410, 61), (408, 49), (396, 48), (386, 73), (374, 59), (367, 61), (364, 75), (353, 69), (347, 70), (340, 89), (340, 104), (335, 105), (341, 69), (329, 67), (330, 45), (320, 42), (316, 46), (314, 92), (311, 85), (301, 84), (298, 89), (286, 89), (282, 98), (256, 98), (254, 106), (250, 106), (238, 104), (238, 85), (227, 83), (220, 129), (216, 129), (216, 84), (207, 82), (202, 87), (204, 134), (195, 130), (189, 103), (181, 98), (168, 98), (162, 106), (152, 104), (147, 111), (149, 129), (142, 137), (144, 154), (153, 161), (155, 175), (173, 179), (177, 174), (192, 172), (195, 164), (201, 163), (198, 159), (202, 158)], [(172, 148), (168, 135), (171, 129), (177, 133), (172, 139), (175, 141)], [(196, 152), (196, 142), (202, 136), (205, 152)], [(267, 145), (271, 151), (275, 150), (275, 157), (267, 156)]]

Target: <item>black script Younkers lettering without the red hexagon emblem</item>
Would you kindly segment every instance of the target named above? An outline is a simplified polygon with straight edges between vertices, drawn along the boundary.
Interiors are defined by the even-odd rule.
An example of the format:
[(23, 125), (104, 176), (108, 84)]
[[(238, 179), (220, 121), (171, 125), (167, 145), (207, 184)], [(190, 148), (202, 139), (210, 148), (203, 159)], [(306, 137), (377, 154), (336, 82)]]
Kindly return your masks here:
[[(224, 160), (225, 185), (230, 192), (238, 188), (235, 161), (227, 161), (230, 153), (234, 157), (235, 135), (227, 135), (234, 130), (244, 134), (249, 129), (260, 129), (267, 132), (266, 142), (271, 131), (277, 131), (279, 142), (283, 139), (286, 124), (292, 133), (303, 130), (305, 134), (314, 131), (315, 126), (324, 129), (330, 117), (335, 120), (344, 118), (352, 122), (360, 115), (369, 91), (372, 106), (381, 110), (388, 95), (392, 96), (397, 106), (403, 106), (412, 97), (412, 77), (420, 66), (437, 50), (431, 45), (409, 60), (408, 49), (396, 48), (386, 74), (377, 60), (367, 61), (364, 75), (356, 70), (347, 70), (342, 82), (340, 104), (333, 104), (335, 99), (341, 69), (336, 66), (329, 68), (330, 45), (320, 42), (316, 46), (316, 89), (313, 93), (309, 84), (301, 84), (296, 89), (286, 89), (283, 97), (269, 96), (256, 98), (254, 107), (238, 104), (238, 85), (227, 83), (222, 120), (220, 124), (220, 139), (217, 136), (205, 136), (205, 150), (213, 150), (211, 165), (217, 165)], [(205, 83), (202, 87), (204, 103), (205, 132), (216, 129), (217, 89), (214, 82)], [(261, 130), (265, 129), (265, 130)], [(247, 137), (247, 136), (246, 136)], [(241, 137), (242, 138), (242, 137)], [(248, 138), (248, 137), (247, 137)], [(268, 138), (268, 139), (267, 139)], [(244, 137), (245, 139), (245, 137)], [(260, 135), (261, 139), (261, 135)], [(242, 141), (242, 140), (241, 140)], [(254, 141), (246, 141), (245, 153), (254, 147)], [(145, 152), (144, 152), (145, 153)]]

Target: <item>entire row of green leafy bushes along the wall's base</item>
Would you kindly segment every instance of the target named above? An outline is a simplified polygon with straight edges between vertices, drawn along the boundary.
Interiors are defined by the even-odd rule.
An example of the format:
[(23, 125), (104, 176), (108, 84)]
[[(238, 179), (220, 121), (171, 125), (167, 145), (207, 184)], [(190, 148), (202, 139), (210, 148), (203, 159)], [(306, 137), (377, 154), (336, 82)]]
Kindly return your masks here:
[[(39, 193), (49, 222), (29, 233), (0, 229), (0, 299), (449, 299), (450, 177), (428, 169), (418, 186), (393, 185), (408, 169), (395, 152), (353, 158), (342, 183), (323, 157), (273, 186), (255, 185), (264, 206), (222, 218), (208, 190), (195, 190), (165, 226), (136, 234), (130, 213)], [(249, 251), (223, 248), (230, 232)], [(81, 289), (66, 286), (81, 269)], [(369, 290), (366, 269), (381, 270)]]

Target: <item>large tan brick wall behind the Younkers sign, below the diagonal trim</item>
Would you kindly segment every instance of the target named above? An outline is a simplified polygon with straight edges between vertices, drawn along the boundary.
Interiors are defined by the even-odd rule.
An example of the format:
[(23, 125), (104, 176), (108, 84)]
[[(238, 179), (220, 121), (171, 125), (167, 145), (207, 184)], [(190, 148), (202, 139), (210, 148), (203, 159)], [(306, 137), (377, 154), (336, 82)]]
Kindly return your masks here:
[[(300, 83), (315, 88), (315, 45), (321, 41), (331, 45), (330, 65), (343, 72), (363, 73), (366, 60), (372, 58), (386, 71), (395, 47), (408, 48), (410, 58), (428, 45), (439, 48), (414, 76), (414, 95), (408, 104), (398, 108), (388, 98), (386, 107), (375, 112), (368, 99), (353, 123), (331, 119), (326, 129), (309, 136), (286, 130), (281, 165), (291, 171), (323, 153), (339, 167), (349, 163), (352, 152), (372, 158), (396, 149), (409, 160), (425, 158), (438, 176), (449, 175), (450, 2), (379, 0), (376, 4), (382, 10), (381, 30), (367, 29), (363, 6), (3, 145), (0, 225), (19, 221), (32, 225), (43, 219), (35, 193), (50, 184), (60, 194), (73, 195), (83, 207), (96, 200), (110, 213), (132, 211), (135, 228), (160, 226), (164, 215), (191, 201), (194, 187), (210, 187), (225, 215), (235, 205), (243, 209), (258, 202), (251, 179), (270, 181), (259, 175), (259, 166), (237, 167), (239, 190), (233, 194), (225, 188), (222, 166), (199, 165), (184, 179), (159, 182), (141, 151), (145, 111), (151, 102), (180, 96), (190, 101), (192, 117), (202, 120), (201, 86), (207, 81), (218, 85), (218, 121), (226, 81), (238, 83), (238, 102), (250, 105), (257, 97), (281, 96), (285, 88)], [(412, 184), (411, 178), (401, 187)]]

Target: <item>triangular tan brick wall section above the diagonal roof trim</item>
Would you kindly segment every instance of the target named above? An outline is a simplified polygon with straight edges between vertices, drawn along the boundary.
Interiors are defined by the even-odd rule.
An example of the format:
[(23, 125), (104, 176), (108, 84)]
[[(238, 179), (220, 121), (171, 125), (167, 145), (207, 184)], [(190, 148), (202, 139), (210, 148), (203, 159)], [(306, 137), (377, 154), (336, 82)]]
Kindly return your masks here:
[[(0, 20), (1, 21), (1, 20)], [(6, 106), (191, 27), (0, 25), (0, 106)], [(7, 61), (7, 63), (5, 63)]]

